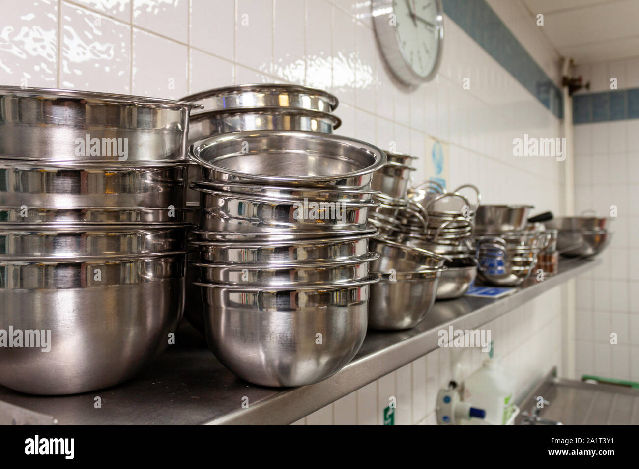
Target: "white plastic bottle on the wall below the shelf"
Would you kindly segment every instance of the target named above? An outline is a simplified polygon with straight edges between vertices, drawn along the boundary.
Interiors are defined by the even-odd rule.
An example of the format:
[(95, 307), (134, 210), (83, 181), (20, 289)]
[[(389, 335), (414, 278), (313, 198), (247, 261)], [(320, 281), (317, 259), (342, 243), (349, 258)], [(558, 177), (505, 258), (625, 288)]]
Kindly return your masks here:
[[(463, 421), (463, 425), (505, 425), (512, 415), (512, 380), (493, 358), (493, 348), (489, 358), (481, 368), (468, 376), (464, 382), (464, 401), (486, 410), (486, 419)], [(512, 422), (511, 422), (512, 423)]]

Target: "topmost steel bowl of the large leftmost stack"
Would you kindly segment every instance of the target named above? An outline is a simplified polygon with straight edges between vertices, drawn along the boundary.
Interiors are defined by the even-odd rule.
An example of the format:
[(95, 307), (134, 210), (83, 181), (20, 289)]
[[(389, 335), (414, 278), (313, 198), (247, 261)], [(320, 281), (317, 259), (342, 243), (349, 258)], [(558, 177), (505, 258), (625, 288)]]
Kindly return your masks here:
[(184, 161), (185, 101), (71, 89), (0, 87), (0, 155), (34, 161)]

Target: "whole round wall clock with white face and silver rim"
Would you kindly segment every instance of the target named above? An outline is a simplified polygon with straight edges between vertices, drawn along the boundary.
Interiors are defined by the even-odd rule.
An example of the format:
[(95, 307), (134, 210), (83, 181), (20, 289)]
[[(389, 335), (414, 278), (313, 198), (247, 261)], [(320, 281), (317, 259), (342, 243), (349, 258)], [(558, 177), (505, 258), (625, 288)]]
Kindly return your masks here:
[(373, 0), (373, 24), (397, 78), (419, 84), (435, 76), (443, 40), (441, 0)]

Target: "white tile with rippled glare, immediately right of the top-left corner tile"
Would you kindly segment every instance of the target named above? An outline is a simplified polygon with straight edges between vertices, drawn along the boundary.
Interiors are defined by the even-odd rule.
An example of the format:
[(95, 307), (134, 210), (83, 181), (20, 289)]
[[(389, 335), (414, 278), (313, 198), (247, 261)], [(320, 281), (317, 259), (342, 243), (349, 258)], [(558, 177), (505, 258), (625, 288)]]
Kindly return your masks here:
[(65, 88), (130, 93), (131, 27), (63, 3), (60, 78)]

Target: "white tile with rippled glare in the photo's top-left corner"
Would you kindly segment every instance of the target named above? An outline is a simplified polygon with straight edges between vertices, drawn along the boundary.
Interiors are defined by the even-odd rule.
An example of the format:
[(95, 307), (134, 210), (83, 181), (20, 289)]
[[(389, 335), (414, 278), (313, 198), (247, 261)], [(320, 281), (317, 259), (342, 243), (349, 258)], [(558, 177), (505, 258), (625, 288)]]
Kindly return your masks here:
[(0, 82), (54, 88), (58, 80), (58, 2), (12, 1), (0, 23)]

